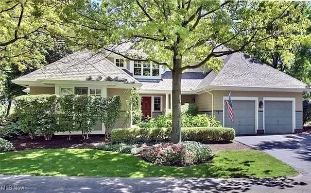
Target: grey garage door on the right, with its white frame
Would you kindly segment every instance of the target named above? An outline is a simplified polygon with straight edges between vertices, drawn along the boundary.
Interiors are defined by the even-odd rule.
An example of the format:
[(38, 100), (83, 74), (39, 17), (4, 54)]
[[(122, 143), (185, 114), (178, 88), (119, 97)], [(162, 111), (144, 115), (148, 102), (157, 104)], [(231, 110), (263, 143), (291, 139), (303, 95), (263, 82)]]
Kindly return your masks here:
[(293, 133), (295, 125), (294, 98), (264, 98), (264, 133)]

